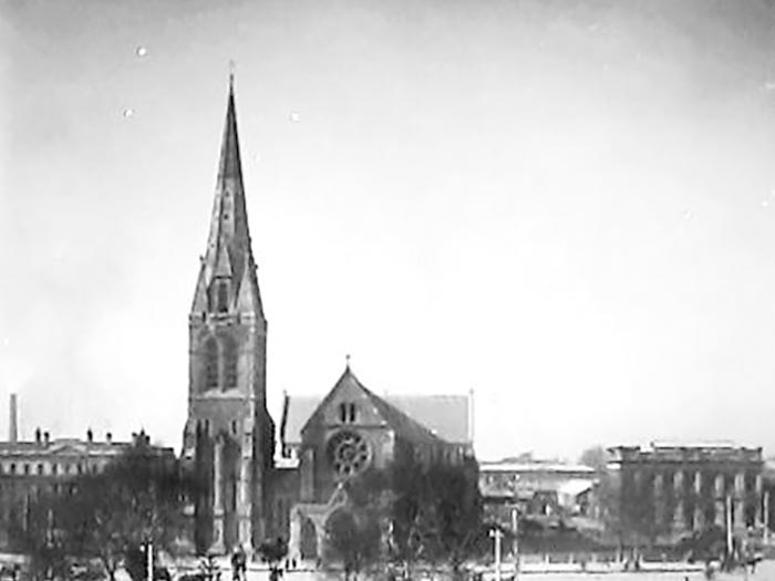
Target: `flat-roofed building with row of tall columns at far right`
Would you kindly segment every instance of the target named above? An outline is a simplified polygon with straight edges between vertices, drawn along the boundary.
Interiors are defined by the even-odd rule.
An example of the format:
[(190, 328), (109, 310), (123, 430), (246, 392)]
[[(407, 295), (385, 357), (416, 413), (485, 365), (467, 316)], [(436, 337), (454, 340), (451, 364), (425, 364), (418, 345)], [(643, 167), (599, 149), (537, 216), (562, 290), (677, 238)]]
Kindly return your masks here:
[(624, 530), (670, 542), (710, 526), (735, 533), (763, 526), (761, 447), (654, 443), (609, 453)]

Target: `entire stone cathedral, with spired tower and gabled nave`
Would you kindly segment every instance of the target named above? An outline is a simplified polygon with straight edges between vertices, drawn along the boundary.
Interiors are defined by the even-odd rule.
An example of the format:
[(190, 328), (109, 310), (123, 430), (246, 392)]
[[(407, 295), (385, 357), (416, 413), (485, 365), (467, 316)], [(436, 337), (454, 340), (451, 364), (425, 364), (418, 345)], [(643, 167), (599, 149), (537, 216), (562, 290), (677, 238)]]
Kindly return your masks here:
[(276, 448), (256, 270), (230, 82), (207, 248), (188, 319), (182, 460), (199, 483), (192, 540), (198, 553), (224, 554), (238, 547), (251, 553), (281, 537), (292, 558), (319, 558), (326, 520), (347, 502), (341, 485), (348, 478), (402, 454), (426, 463), (473, 455), (472, 395), (383, 398), (348, 362), (324, 397), (286, 396)]

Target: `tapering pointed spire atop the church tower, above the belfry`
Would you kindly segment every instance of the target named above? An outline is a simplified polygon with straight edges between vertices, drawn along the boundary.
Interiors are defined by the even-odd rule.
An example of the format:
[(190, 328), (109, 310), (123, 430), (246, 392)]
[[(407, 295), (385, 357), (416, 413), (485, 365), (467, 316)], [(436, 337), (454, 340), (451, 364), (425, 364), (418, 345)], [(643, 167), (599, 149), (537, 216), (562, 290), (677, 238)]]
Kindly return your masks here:
[[(234, 73), (229, 74), (229, 93), (226, 104), (226, 123), (220, 144), (220, 158), (218, 162), (218, 177), (216, 179), (215, 199), (213, 203), (213, 216), (210, 218), (210, 231), (207, 239), (207, 251), (203, 260), (200, 280), (197, 283), (194, 298), (194, 310), (203, 304), (209, 304), (213, 311), (213, 300), (202, 297), (208, 293), (209, 298), (216, 294), (213, 289), (215, 280), (219, 286), (228, 289), (228, 304), (234, 305), (235, 299), (240, 293), (244, 281), (249, 281), (250, 289), (258, 291), (256, 273), (252, 272), (252, 251), (250, 248), (250, 231), (248, 229), (248, 216), (245, 203), (245, 186), (242, 183), (242, 164), (239, 156), (239, 136), (237, 133), (237, 112), (234, 95)], [(250, 272), (245, 272), (249, 269)], [(217, 291), (223, 297), (224, 290)], [(241, 293), (244, 294), (245, 291)], [(260, 312), (260, 298), (251, 301)], [(223, 312), (221, 307), (218, 308)]]

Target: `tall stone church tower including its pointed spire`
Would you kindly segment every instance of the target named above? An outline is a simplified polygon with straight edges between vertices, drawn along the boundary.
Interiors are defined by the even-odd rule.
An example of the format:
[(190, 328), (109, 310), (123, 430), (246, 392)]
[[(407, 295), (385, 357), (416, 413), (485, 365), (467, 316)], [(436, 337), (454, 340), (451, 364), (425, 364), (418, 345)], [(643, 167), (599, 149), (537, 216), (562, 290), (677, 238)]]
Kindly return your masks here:
[(197, 479), (197, 552), (257, 547), (266, 533), (275, 426), (267, 411), (267, 320), (250, 248), (234, 80), (207, 249), (188, 319), (183, 458)]

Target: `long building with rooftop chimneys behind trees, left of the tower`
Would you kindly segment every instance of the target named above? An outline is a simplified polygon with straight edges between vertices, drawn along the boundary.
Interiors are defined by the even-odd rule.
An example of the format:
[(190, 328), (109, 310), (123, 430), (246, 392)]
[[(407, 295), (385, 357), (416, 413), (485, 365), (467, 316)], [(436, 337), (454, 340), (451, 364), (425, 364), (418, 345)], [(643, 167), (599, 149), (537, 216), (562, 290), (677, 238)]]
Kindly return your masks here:
[[(28, 506), (45, 492), (62, 494), (73, 486), (72, 479), (84, 474), (101, 473), (112, 460), (140, 439), (149, 445), (144, 433), (131, 440), (116, 442), (107, 433), (104, 439), (91, 429), (85, 439), (52, 438), (37, 428), (34, 439), (19, 439), (17, 397), (11, 395), (8, 442), (0, 442), (0, 548), (11, 548), (11, 531), (23, 529)], [(175, 460), (172, 448), (152, 446), (156, 454)]]

